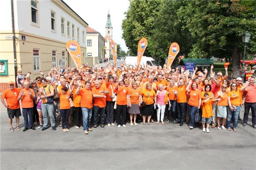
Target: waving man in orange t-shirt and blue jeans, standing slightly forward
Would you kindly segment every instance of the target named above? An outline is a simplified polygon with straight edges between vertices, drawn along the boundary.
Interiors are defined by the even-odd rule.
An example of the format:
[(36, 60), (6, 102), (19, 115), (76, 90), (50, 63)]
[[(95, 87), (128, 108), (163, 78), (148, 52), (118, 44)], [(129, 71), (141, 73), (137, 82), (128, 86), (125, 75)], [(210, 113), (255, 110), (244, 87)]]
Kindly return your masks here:
[(85, 88), (82, 88), (82, 82), (81, 80), (77, 81), (78, 88), (75, 91), (75, 94), (79, 94), (81, 96), (81, 102), (80, 106), (82, 109), (83, 114), (83, 133), (88, 134), (88, 131), (92, 131), (92, 129), (89, 127), (90, 118), (92, 114), (92, 92), (90, 89), (90, 81), (85, 82)]

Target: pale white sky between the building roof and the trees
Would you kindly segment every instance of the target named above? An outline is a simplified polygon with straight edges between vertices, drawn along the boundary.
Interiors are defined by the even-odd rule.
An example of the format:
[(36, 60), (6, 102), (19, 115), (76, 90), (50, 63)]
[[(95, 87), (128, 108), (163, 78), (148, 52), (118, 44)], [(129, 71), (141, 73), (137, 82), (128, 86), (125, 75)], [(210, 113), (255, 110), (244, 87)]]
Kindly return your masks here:
[(113, 40), (120, 44), (122, 50), (127, 51), (122, 39), (122, 21), (124, 12), (128, 10), (128, 0), (64, 0), (88, 25), (105, 37), (105, 26), (108, 11), (113, 27)]

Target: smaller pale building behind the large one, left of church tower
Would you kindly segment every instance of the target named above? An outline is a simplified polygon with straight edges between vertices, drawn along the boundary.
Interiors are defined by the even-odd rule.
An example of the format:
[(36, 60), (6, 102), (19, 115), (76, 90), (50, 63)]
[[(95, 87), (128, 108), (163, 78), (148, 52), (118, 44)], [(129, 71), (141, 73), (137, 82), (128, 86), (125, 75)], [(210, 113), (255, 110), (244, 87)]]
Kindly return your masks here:
[(104, 61), (104, 45), (105, 39), (95, 29), (86, 28), (87, 37), (87, 61), (92, 60), (93, 65), (96, 65), (100, 60)]

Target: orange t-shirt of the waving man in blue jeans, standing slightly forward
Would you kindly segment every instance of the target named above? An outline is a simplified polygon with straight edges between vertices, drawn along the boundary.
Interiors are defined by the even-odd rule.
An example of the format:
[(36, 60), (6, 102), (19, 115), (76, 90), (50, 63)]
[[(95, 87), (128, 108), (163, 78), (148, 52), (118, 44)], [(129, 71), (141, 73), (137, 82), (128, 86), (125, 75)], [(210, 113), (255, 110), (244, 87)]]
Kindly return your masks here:
[(81, 102), (80, 102), (80, 107), (84, 107), (87, 109), (91, 109), (92, 108), (92, 92), (90, 89), (87, 88), (82, 88), (79, 90), (79, 95), (81, 96)]

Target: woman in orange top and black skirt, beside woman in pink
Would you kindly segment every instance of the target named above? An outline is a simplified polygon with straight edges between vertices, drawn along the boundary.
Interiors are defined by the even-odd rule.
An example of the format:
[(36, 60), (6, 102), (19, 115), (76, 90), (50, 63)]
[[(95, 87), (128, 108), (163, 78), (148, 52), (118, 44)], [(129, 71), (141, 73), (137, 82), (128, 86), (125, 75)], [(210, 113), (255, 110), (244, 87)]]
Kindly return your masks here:
[(142, 96), (143, 100), (140, 110), (143, 119), (143, 125), (146, 125), (146, 117), (147, 124), (150, 125), (151, 116), (154, 114), (154, 98), (156, 96), (154, 90), (152, 89), (152, 83), (147, 83), (146, 89), (141, 90), (139, 94)]

